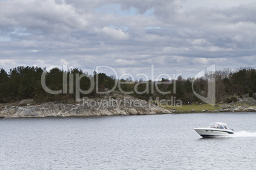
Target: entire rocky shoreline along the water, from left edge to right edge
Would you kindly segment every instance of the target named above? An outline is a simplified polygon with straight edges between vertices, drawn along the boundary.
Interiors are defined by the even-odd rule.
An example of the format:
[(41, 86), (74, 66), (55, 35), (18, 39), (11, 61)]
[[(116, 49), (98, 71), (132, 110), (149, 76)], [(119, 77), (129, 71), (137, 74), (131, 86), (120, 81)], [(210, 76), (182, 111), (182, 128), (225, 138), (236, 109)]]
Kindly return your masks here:
[(216, 110), (167, 110), (145, 100), (118, 91), (97, 98), (83, 98), (76, 103), (42, 103), (22, 100), (0, 105), (0, 118), (17, 117), (81, 117), (106, 115), (185, 114), (199, 112), (256, 112), (256, 100), (245, 96), (232, 103), (218, 103)]

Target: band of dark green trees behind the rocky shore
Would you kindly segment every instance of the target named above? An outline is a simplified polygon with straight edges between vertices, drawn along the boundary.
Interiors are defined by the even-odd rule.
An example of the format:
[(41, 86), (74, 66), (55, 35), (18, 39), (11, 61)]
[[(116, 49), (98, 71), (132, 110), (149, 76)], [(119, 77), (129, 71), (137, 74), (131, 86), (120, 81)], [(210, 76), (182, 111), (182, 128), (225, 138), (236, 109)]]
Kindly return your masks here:
[[(59, 94), (50, 94), (41, 85), (41, 75), (45, 72), (45, 83), (48, 89), (53, 91), (61, 90)], [(77, 76), (75, 76), (77, 75)], [(240, 68), (236, 70), (224, 69), (205, 74), (203, 77), (192, 79), (178, 77), (176, 80), (162, 78), (161, 81), (132, 81), (132, 79), (115, 79), (115, 76), (108, 76), (104, 73), (94, 72), (93, 75), (79, 69), (64, 72), (58, 68), (50, 71), (40, 67), (15, 67), (10, 72), (0, 69), (0, 102), (8, 103), (24, 99), (33, 99), (36, 103), (48, 101), (73, 103), (76, 101), (76, 91), (89, 91), (83, 94), (78, 91), (80, 98), (101, 97), (99, 92), (115, 89), (127, 92), (136, 98), (149, 100), (150, 98), (169, 99), (175, 97), (183, 103), (201, 102), (192, 91), (192, 81), (196, 93), (207, 96), (208, 79), (215, 77), (216, 100), (230, 102), (235, 100), (232, 95), (252, 96), (256, 92), (256, 70), (251, 68)], [(66, 80), (66, 81), (64, 81)], [(96, 81), (97, 80), (97, 81)], [(93, 81), (93, 82), (92, 82)], [(67, 83), (68, 82), (68, 83)], [(166, 82), (166, 83), (161, 83)], [(66, 90), (65, 88), (66, 87)], [(162, 93), (170, 92), (170, 93)]]

